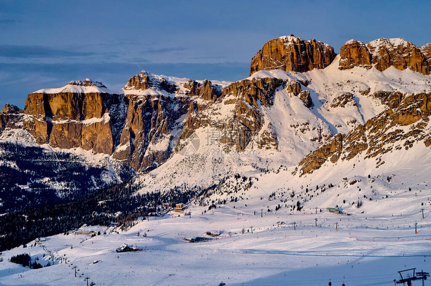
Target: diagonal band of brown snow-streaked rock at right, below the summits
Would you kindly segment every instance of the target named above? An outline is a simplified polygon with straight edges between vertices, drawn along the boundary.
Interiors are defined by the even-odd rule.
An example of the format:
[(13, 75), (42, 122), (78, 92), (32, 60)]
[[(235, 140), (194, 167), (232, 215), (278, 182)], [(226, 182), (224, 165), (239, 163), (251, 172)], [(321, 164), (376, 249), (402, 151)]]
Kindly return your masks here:
[[(390, 95), (388, 95), (390, 96)], [(360, 152), (365, 152), (365, 159), (375, 158), (392, 150), (408, 149), (415, 142), (423, 142), (426, 147), (431, 145), (431, 135), (426, 130), (431, 115), (431, 94), (413, 94), (402, 96), (394, 101), (389, 108), (358, 125), (346, 135), (337, 134), (327, 143), (305, 156), (299, 163), (300, 175), (319, 169), (325, 162), (336, 163), (350, 160)], [(401, 126), (409, 126), (407, 131)], [(378, 158), (377, 158), (378, 159)], [(376, 159), (376, 168), (383, 164)]]

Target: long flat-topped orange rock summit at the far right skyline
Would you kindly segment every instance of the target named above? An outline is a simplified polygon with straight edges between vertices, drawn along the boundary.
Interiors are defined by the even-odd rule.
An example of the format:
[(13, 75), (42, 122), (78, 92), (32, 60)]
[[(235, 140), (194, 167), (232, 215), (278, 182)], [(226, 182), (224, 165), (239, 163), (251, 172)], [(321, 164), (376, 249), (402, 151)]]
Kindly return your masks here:
[(372, 65), (377, 70), (384, 71), (393, 66), (398, 70), (410, 69), (429, 75), (429, 47), (425, 45), (418, 48), (401, 38), (380, 38), (366, 46), (362, 42), (350, 40), (341, 47), (339, 69), (356, 66), (371, 68)]

